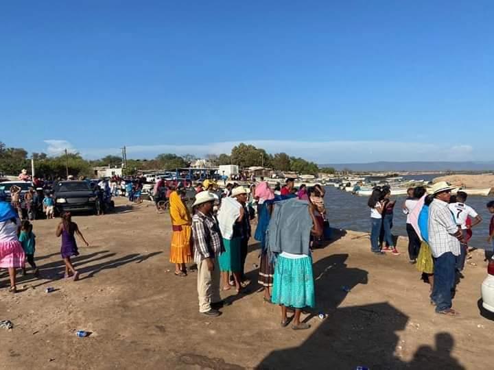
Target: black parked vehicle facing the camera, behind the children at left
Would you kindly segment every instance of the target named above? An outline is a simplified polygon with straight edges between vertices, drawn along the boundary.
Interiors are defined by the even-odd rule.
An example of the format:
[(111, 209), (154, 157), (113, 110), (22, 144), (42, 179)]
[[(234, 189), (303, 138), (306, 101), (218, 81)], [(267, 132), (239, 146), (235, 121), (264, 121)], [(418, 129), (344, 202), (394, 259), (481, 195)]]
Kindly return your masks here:
[(96, 193), (86, 181), (60, 181), (54, 186), (57, 213), (93, 212), (96, 214)]

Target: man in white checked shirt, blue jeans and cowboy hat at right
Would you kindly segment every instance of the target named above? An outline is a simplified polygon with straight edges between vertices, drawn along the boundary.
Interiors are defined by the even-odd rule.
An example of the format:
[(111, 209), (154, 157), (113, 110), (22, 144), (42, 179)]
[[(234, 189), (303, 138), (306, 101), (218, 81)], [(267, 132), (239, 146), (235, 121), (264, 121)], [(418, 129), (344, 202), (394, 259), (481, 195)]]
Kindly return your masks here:
[(434, 200), (429, 206), (429, 245), (434, 257), (434, 288), (431, 300), (436, 312), (458, 314), (451, 308), (452, 292), (456, 280), (456, 257), (460, 255), (463, 234), (449, 210), (451, 190), (455, 186), (438, 182), (430, 188)]

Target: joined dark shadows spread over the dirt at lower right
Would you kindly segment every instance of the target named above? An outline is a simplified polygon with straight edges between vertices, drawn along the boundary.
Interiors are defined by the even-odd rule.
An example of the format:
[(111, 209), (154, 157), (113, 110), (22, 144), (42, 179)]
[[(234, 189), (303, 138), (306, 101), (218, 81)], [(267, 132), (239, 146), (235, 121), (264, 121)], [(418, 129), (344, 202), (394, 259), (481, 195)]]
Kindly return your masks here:
[(346, 258), (335, 254), (314, 264), (316, 310), (327, 318), (300, 346), (272, 351), (256, 369), (464, 369), (451, 357), (454, 338), (446, 332), (436, 334), (435, 347), (419, 347), (411, 362), (401, 360), (399, 345), (405, 343), (397, 332), (405, 330), (408, 316), (388, 302), (340, 308), (368, 277), (367, 271), (348, 268)]

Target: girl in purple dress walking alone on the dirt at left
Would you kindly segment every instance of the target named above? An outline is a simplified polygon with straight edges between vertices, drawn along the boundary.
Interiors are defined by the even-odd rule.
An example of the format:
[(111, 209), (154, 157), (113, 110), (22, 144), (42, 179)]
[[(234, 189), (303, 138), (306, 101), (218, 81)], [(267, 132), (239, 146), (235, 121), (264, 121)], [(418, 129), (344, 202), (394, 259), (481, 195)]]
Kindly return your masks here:
[(73, 276), (74, 281), (79, 279), (79, 273), (78, 271), (75, 271), (70, 260), (72, 256), (79, 256), (77, 243), (75, 243), (75, 234), (78, 234), (84, 243), (86, 243), (86, 247), (89, 247), (89, 243), (84, 239), (77, 223), (72, 222), (71, 213), (65, 212), (62, 214), (62, 222), (58, 224), (56, 236), (62, 236), (60, 253), (65, 262), (64, 277), (67, 279), (67, 277)]

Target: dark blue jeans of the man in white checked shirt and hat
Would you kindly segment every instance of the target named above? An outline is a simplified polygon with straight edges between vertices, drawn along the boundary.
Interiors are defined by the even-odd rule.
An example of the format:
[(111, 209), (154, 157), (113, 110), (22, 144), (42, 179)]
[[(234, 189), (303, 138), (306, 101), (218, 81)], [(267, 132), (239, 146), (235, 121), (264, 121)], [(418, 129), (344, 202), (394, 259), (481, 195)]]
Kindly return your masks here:
[(451, 252), (434, 258), (434, 288), (431, 299), (436, 304), (436, 312), (451, 308), (451, 291), (456, 277), (456, 256)]

